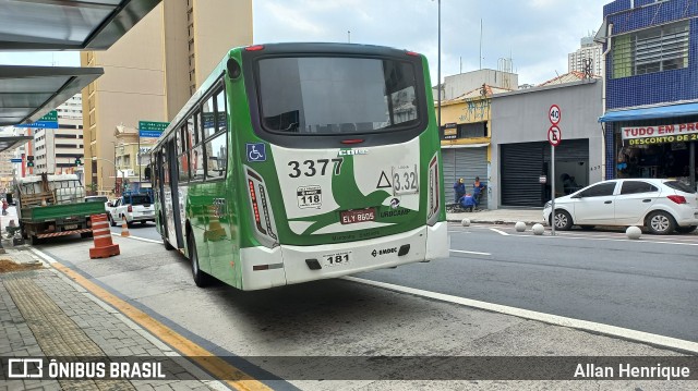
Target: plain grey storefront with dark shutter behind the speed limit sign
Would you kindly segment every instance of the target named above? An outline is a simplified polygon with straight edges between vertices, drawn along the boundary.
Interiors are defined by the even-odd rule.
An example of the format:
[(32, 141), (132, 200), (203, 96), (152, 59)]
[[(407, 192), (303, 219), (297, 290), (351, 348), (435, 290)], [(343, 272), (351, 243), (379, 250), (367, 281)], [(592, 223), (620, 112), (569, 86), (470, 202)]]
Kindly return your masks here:
[[(490, 204), (542, 207), (556, 196), (599, 182), (603, 176), (602, 83), (586, 78), (494, 95)], [(562, 112), (562, 143), (555, 147), (555, 181), (547, 142), (549, 110)], [(563, 179), (568, 179), (567, 182)]]

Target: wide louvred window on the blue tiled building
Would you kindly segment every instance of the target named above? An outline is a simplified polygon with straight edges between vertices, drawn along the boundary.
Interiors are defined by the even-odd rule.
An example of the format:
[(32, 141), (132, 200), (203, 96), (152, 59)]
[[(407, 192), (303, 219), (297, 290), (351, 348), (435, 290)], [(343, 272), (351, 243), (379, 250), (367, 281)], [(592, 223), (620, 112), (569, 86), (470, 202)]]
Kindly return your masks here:
[(688, 66), (688, 21), (618, 36), (613, 41), (613, 78)]

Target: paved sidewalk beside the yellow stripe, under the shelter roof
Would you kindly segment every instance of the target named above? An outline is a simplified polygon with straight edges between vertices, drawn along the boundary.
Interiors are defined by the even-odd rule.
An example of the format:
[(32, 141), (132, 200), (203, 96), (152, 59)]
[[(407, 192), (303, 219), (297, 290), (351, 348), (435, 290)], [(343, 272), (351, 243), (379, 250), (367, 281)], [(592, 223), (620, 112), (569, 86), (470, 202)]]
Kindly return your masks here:
[[(8, 248), (0, 259), (34, 265), (36, 270), (0, 272), (0, 390), (208, 390), (201, 369), (147, 333), (57, 269), (28, 246)], [(7, 262), (3, 262), (7, 268)], [(163, 364), (166, 379), (52, 380), (8, 379), (8, 357), (119, 362), (141, 357)], [(8, 358), (5, 361), (4, 358)], [(178, 363), (176, 365), (171, 363)], [(46, 375), (48, 363), (45, 363)], [(206, 379), (206, 380), (198, 380)]]

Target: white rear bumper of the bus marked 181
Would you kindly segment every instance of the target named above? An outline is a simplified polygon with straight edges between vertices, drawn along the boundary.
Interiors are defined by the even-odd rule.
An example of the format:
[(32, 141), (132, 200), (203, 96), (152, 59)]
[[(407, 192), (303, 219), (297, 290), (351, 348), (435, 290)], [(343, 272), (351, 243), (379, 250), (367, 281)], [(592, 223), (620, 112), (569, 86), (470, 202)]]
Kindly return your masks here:
[(446, 258), (448, 248), (446, 222), (357, 242), (244, 248), (242, 289), (267, 289)]

